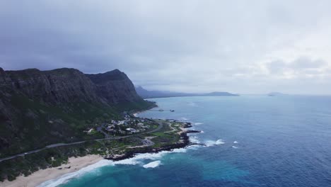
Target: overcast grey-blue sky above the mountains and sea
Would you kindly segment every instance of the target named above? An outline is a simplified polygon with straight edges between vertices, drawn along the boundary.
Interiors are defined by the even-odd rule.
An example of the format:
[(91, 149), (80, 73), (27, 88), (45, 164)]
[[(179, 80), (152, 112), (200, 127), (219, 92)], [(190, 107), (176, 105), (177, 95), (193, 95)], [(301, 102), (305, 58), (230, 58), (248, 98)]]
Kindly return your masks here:
[(331, 94), (331, 1), (0, 1), (0, 67), (146, 89)]

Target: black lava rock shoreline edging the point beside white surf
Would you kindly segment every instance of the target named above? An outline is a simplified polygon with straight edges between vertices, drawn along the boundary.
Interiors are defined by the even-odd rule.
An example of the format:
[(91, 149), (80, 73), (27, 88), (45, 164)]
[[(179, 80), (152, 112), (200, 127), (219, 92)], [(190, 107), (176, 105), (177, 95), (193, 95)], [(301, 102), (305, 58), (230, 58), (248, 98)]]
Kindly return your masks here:
[[(191, 123), (186, 123), (184, 128), (191, 128), (192, 125)], [(110, 156), (110, 157), (105, 157), (105, 159), (112, 160), (112, 161), (119, 161), (123, 159), (129, 159), (134, 157), (136, 154), (143, 154), (143, 153), (158, 153), (161, 151), (173, 151), (173, 149), (180, 149), (180, 148), (185, 148), (190, 145), (199, 145), (197, 143), (192, 143), (190, 142), (190, 137), (187, 135), (188, 133), (199, 133), (201, 131), (199, 130), (186, 130), (185, 132), (180, 133), (180, 142), (177, 142), (173, 145), (165, 145), (162, 147), (158, 148), (153, 148), (153, 147), (141, 147), (139, 149), (132, 149), (129, 152), (126, 152), (125, 154), (122, 155), (117, 155), (117, 156)]]

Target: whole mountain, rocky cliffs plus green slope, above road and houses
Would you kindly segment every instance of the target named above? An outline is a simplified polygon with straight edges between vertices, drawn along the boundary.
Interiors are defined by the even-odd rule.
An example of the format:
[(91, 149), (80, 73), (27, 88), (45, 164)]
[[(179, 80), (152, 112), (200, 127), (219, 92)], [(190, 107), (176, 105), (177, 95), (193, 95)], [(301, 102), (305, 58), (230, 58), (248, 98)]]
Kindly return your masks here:
[[(122, 107), (125, 106), (125, 107)], [(77, 69), (0, 68), (0, 157), (59, 142), (93, 139), (84, 130), (120, 118), (121, 110), (151, 106), (126, 74)]]

